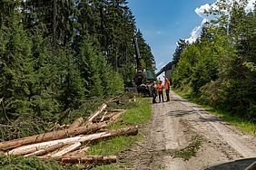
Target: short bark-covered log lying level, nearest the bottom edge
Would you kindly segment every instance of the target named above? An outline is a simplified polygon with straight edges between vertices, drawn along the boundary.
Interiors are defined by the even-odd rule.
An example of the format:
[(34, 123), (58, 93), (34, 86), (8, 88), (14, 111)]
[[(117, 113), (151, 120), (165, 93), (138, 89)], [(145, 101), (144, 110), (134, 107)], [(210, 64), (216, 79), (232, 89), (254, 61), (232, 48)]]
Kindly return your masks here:
[(111, 164), (116, 162), (116, 156), (64, 156), (63, 163)]

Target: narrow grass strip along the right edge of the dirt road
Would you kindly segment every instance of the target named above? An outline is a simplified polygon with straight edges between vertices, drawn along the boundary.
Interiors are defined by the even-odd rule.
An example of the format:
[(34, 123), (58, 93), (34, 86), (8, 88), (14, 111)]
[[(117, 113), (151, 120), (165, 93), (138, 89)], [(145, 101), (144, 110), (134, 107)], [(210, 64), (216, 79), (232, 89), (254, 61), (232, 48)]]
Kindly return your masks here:
[[(175, 93), (181, 96), (183, 99), (187, 99), (188, 101), (192, 103), (199, 104), (197, 102), (197, 99), (193, 98), (192, 95), (189, 93), (182, 93), (181, 91), (176, 91)], [(252, 123), (250, 120), (241, 118), (239, 116), (235, 116), (231, 114), (230, 112), (227, 112), (222, 109), (217, 109), (209, 105), (200, 105), (203, 109), (207, 109), (209, 112), (212, 113), (212, 115), (216, 115), (219, 118), (222, 118), (224, 121), (230, 123), (231, 125), (238, 127), (241, 129), (242, 132), (249, 133), (256, 137), (256, 124)]]

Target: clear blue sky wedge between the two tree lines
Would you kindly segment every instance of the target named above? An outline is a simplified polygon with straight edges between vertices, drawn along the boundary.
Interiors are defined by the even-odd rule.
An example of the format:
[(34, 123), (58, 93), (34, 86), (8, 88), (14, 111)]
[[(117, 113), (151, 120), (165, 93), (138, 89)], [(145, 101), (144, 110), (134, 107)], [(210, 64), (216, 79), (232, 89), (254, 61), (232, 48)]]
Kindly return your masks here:
[(128, 0), (136, 26), (151, 46), (157, 69), (169, 61), (179, 39), (191, 37), (192, 30), (202, 24), (195, 9), (214, 0)]

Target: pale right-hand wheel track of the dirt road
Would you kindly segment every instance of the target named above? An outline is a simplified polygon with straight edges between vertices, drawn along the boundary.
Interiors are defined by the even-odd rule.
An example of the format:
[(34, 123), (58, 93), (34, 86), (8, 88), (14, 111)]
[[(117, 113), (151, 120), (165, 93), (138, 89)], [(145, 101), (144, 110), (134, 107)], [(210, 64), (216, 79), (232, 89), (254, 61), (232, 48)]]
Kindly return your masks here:
[[(176, 96), (176, 98), (181, 99), (178, 96)], [(200, 109), (192, 103), (185, 101), (181, 102), (183, 105), (195, 111), (195, 113), (197, 113), (200, 118), (206, 122), (204, 123), (202, 121), (203, 126), (200, 126), (199, 122), (197, 122), (197, 124), (200, 126), (198, 129), (201, 129), (201, 131), (205, 130), (204, 133), (208, 134), (208, 137), (211, 137), (209, 132), (212, 133), (213, 131), (215, 133), (215, 138), (218, 138), (221, 140), (221, 143), (224, 144), (222, 145), (224, 147), (224, 152), (228, 149), (226, 147), (232, 147), (232, 149), (229, 148), (229, 152), (227, 153), (227, 156), (229, 156), (231, 159), (256, 156), (255, 137), (241, 133), (240, 130), (223, 122), (222, 119), (208, 114), (204, 109)], [(208, 124), (208, 129), (205, 129), (205, 124)], [(194, 125), (193, 127), (196, 126)], [(220, 141), (218, 143), (220, 143)]]

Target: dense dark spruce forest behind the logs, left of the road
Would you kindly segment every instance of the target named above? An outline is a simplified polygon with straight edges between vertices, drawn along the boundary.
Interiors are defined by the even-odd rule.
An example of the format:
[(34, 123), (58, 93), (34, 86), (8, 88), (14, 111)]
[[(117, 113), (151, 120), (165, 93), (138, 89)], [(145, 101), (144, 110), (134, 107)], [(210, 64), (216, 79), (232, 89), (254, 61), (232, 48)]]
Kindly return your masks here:
[(5, 0), (0, 8), (1, 140), (71, 121), (122, 93), (136, 71), (133, 36), (143, 68), (155, 70), (126, 0)]

